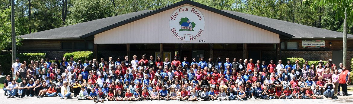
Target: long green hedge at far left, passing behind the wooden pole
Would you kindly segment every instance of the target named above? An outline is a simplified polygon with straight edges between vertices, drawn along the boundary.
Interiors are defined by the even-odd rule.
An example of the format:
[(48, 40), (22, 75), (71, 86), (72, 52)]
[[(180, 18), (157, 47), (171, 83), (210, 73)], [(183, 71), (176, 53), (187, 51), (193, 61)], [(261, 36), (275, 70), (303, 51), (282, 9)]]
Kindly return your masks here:
[[(27, 65), (30, 64), (31, 60), (40, 61), (42, 58), (45, 59), (45, 53), (20, 53), (16, 54), (16, 57), (20, 58), (20, 63), (27, 61)], [(0, 71), (5, 75), (11, 74), (11, 66), (12, 66), (12, 55), (4, 54), (0, 55)]]

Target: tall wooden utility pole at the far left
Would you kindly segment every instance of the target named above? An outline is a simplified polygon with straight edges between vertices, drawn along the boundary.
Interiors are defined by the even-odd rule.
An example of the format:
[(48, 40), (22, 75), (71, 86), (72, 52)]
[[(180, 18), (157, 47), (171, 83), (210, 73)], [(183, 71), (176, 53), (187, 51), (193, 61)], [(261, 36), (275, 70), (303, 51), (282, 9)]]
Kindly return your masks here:
[(15, 1), (11, 0), (11, 35), (12, 35), (12, 63), (15, 62), (16, 58), (16, 34), (15, 34)]

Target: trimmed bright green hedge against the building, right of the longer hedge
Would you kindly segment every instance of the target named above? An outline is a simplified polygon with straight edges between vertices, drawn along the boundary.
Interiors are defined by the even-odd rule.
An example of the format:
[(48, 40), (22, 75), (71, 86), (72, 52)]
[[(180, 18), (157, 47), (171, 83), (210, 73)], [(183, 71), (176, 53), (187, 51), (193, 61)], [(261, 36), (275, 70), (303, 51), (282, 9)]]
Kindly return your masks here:
[(73, 61), (78, 62), (78, 60), (82, 60), (84, 62), (85, 59), (93, 59), (92, 51), (75, 51), (72, 53), (65, 53), (63, 55), (66, 60), (70, 60), (70, 57), (73, 57)]

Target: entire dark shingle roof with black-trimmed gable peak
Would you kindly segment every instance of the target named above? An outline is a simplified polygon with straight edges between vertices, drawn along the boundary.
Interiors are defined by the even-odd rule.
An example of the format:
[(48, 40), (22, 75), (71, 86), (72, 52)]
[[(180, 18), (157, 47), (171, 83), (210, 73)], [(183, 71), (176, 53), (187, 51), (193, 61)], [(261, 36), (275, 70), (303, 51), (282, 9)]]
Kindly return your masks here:
[[(209, 6), (205, 6), (190, 0), (183, 0), (175, 4), (156, 9), (156, 10), (145, 10), (139, 12), (133, 12), (118, 16), (112, 16), (108, 18), (78, 23), (75, 25), (45, 30), (42, 32), (36, 32), (26, 35), (21, 35), (20, 37), (24, 39), (84, 39), (96, 34), (105, 32), (107, 30), (143, 19), (145, 17), (178, 7), (184, 4), (189, 4), (195, 7), (211, 11), (228, 18), (238, 20), (240, 22), (247, 23), (252, 26), (256, 26), (270, 32), (279, 34), (280, 37), (285, 38), (342, 38), (341, 32), (335, 32), (327, 29), (321, 29), (306, 25), (300, 25), (297, 23), (281, 21), (276, 19), (265, 18), (262, 16), (256, 16), (251, 14), (239, 13), (228, 10), (219, 10)], [(348, 34), (348, 38), (353, 38), (353, 35)]]

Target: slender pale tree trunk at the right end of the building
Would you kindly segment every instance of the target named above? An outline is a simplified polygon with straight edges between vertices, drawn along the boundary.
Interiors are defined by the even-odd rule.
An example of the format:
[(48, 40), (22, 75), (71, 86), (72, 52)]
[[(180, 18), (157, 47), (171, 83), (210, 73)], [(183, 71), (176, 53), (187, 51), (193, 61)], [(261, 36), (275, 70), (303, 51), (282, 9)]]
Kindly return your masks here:
[(343, 66), (346, 66), (347, 58), (347, 9), (345, 8), (345, 18), (343, 19)]

